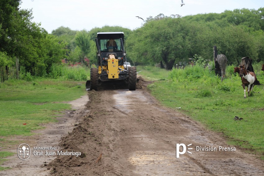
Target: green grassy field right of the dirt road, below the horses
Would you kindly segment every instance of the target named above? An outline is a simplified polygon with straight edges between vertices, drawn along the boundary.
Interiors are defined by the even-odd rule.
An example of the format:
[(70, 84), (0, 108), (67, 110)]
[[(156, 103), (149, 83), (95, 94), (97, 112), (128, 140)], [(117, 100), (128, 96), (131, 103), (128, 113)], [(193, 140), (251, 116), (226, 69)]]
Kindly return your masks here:
[[(213, 72), (195, 66), (172, 70), (167, 80), (156, 81), (149, 89), (163, 105), (223, 133), (230, 144), (264, 159), (264, 91), (244, 99), (241, 79), (231, 67), (223, 82)], [(264, 84), (263, 73), (257, 79)], [(263, 86), (255, 86), (254, 91), (261, 91)], [(243, 120), (235, 121), (235, 116)]]

